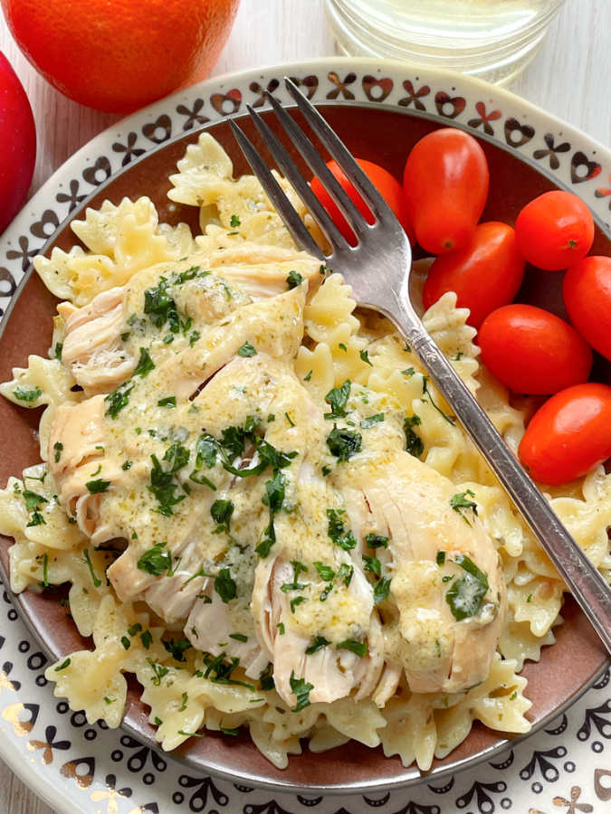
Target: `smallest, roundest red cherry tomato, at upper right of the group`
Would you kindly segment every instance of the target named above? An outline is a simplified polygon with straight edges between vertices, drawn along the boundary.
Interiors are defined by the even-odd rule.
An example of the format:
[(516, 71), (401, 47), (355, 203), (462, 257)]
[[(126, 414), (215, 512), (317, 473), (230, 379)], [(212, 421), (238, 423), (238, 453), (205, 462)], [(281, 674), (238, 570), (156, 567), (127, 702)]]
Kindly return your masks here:
[(516, 239), (533, 266), (548, 271), (568, 269), (590, 251), (594, 221), (577, 195), (555, 190), (539, 195), (520, 211)]

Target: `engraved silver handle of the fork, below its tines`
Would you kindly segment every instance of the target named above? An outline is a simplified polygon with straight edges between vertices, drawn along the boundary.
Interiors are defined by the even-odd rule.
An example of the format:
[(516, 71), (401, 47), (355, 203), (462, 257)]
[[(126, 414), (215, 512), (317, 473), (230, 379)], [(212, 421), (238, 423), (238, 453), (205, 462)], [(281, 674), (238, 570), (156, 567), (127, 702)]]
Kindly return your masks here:
[(502, 440), (415, 312), (401, 308), (406, 336), (454, 415), (488, 462), (611, 654), (611, 590)]

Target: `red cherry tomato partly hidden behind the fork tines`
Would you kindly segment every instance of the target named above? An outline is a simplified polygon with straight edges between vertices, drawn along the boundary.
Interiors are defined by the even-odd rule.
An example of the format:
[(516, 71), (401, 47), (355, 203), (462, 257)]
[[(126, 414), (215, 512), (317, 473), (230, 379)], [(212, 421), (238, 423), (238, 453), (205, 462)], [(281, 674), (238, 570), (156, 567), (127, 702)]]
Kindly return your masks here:
[[(407, 218), (406, 202), (403, 199), (403, 191), (401, 185), (393, 175), (390, 175), (388, 170), (383, 166), (374, 164), (373, 161), (366, 161), (364, 158), (357, 158), (357, 164), (363, 170), (368, 179), (376, 187), (379, 194), (382, 195), (388, 206), (395, 213), (396, 220), (403, 226), (407, 232), (410, 242), (414, 242), (412, 227)], [(368, 205), (363, 201), (357, 190), (350, 184), (348, 178), (335, 161), (329, 161), (327, 164), (329, 170), (338, 179), (339, 184), (342, 185), (344, 190), (348, 193), (348, 197), (358, 209), (358, 212), (363, 215), (368, 223), (373, 223), (376, 219), (369, 211)], [(338, 206), (335, 204), (327, 190), (320, 184), (318, 178), (312, 178), (310, 182), (312, 192), (319, 199), (320, 203), (325, 207), (333, 222), (338, 227), (339, 232), (343, 234), (350, 245), (354, 246), (357, 243), (354, 232), (348, 226), (346, 218), (339, 212)]]

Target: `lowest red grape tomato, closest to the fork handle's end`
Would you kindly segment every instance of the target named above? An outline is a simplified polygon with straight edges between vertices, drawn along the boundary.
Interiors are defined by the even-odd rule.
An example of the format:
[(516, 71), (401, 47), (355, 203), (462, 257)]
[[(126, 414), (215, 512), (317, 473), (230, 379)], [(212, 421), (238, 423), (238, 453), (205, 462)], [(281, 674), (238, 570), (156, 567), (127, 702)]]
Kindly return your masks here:
[(552, 396), (533, 415), (518, 450), (535, 480), (586, 475), (611, 456), (611, 387), (588, 382)]

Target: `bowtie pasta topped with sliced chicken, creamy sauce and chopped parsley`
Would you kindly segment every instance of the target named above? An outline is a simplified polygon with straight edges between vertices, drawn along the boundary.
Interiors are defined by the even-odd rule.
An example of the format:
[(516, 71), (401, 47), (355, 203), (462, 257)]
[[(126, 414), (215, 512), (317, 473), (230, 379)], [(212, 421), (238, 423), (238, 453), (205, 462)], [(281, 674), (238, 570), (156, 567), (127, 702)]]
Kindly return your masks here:
[[(281, 768), (302, 738), (426, 770), (474, 719), (528, 731), (519, 672), (565, 590), (549, 559), (395, 328), (252, 175), (204, 134), (171, 182), (202, 233), (146, 197), (88, 209), (86, 251), (34, 260), (62, 299), (49, 358), (0, 388), (44, 405), (43, 462), (0, 492), (13, 590), (70, 583), (93, 639), (48, 667), (55, 694), (119, 726), (135, 674), (164, 749), (246, 726)], [(524, 412), (466, 316), (450, 293), (424, 323), (516, 450)], [(546, 497), (608, 580), (611, 476)]]

